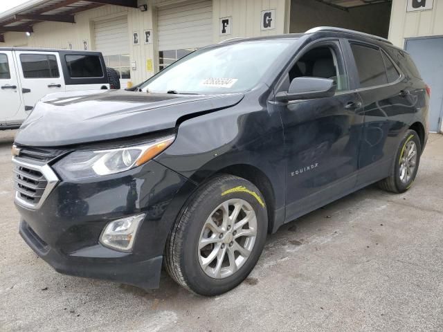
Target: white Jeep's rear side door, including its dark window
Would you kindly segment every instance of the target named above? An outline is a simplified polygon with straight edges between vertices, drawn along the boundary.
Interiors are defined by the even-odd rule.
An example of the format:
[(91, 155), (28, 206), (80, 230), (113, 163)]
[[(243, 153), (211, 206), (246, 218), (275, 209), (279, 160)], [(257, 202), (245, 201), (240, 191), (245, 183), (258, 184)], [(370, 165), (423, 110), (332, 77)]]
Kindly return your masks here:
[(26, 113), (45, 95), (65, 91), (58, 53), (20, 51), (15, 56)]

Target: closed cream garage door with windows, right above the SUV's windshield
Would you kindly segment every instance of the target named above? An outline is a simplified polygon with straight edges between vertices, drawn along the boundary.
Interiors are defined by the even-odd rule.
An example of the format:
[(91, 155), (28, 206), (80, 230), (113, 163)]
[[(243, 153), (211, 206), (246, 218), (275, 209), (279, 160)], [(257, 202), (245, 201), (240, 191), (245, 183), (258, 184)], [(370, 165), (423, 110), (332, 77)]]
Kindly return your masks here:
[(197, 48), (213, 44), (213, 1), (190, 1), (159, 8), (160, 69)]

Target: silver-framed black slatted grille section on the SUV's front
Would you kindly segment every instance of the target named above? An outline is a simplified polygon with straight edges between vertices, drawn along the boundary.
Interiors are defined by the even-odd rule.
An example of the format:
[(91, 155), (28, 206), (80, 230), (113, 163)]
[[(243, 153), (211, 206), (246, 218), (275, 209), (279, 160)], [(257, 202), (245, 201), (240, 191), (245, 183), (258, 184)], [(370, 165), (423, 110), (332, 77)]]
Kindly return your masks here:
[(14, 172), (17, 196), (32, 205), (37, 205), (48, 185), (42, 172), (21, 165), (16, 165)]

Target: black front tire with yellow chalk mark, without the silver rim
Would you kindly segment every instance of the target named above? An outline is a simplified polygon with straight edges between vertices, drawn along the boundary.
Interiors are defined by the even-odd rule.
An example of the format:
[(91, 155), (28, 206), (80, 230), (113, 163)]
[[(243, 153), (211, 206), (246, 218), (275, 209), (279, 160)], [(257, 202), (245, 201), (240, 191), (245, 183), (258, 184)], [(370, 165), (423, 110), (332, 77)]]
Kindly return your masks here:
[[(165, 267), (172, 279), (184, 288), (205, 296), (225, 293), (243, 282), (257, 264), (266, 241), (268, 217), (262, 197), (251, 182), (231, 175), (217, 176), (199, 188), (177, 217), (165, 246)], [(206, 219), (221, 203), (235, 199), (246, 201), (255, 212), (255, 243), (244, 265), (224, 279), (215, 279), (207, 275), (200, 265), (199, 241)]]

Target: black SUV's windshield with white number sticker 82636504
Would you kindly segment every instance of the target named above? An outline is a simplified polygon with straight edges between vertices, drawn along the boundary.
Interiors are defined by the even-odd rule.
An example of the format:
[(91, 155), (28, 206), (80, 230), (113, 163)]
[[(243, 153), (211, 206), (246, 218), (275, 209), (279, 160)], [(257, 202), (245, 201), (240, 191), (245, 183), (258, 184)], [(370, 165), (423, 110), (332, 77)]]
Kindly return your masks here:
[(253, 89), (293, 41), (256, 40), (202, 48), (140, 86), (150, 93), (233, 93)]

